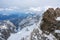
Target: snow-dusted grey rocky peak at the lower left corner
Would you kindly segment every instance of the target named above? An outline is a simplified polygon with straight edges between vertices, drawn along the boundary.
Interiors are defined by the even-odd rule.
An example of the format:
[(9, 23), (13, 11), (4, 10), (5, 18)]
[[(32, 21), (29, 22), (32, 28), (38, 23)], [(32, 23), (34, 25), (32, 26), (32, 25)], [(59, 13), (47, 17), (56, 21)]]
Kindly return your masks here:
[(7, 40), (10, 33), (15, 32), (15, 26), (9, 20), (0, 21), (0, 40)]

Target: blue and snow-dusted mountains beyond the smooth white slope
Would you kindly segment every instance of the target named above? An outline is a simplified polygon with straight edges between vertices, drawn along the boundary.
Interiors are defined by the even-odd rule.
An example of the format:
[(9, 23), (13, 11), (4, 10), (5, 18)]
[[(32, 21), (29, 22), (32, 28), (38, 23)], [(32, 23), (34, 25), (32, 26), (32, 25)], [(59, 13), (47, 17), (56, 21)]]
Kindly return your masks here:
[(2, 33), (2, 37), (0, 36), (0, 39), (7, 40), (11, 33), (17, 33), (23, 28), (37, 23), (39, 21), (40, 16), (40, 12), (5, 12), (5, 14), (4, 12), (0, 12), (0, 33)]

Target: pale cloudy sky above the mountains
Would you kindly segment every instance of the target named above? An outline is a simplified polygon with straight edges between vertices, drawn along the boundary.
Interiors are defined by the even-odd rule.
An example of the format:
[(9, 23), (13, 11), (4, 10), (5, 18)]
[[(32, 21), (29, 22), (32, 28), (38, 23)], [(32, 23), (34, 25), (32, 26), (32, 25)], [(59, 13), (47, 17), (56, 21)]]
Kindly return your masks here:
[(60, 7), (60, 0), (0, 0), (1, 10), (17, 10), (23, 11), (31, 7)]

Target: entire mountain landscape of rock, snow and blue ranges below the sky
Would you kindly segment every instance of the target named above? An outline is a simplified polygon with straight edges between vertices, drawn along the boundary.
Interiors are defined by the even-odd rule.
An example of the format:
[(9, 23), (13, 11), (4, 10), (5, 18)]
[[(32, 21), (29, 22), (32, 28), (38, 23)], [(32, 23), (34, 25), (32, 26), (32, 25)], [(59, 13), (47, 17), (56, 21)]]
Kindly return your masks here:
[(60, 40), (60, 8), (0, 18), (0, 40)]

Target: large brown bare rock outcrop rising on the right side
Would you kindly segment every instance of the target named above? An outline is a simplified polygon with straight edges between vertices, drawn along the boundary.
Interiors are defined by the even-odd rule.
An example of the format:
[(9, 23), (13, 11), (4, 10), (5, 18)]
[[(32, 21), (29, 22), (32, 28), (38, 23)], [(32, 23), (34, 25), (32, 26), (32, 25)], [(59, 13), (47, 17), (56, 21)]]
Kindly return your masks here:
[(60, 17), (60, 8), (56, 8), (55, 10), (53, 8), (49, 8), (43, 14), (41, 30), (44, 33), (52, 33), (57, 40), (60, 40), (60, 33), (55, 32), (56, 30), (60, 30), (60, 20), (56, 20), (58, 17)]

